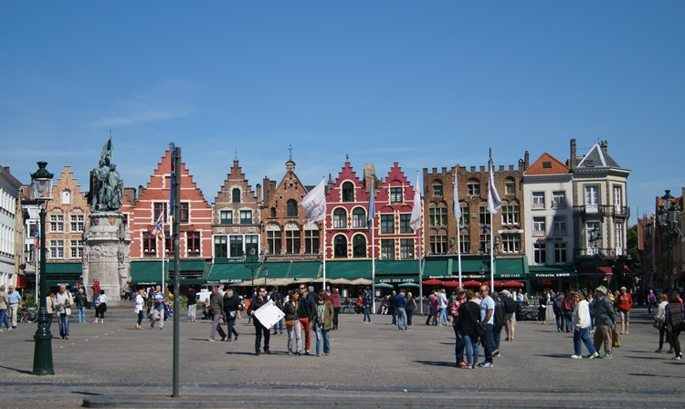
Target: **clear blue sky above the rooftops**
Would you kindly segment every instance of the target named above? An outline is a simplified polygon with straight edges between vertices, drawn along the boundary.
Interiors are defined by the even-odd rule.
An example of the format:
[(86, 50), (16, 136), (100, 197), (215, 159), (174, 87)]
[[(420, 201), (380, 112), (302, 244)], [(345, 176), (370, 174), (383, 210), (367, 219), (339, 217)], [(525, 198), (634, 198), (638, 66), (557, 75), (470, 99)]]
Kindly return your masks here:
[(685, 186), (683, 22), (670, 1), (0, 2), (0, 163), (85, 189), (111, 130), (125, 185), (175, 142), (212, 202), (236, 151), (255, 185), (292, 144), (316, 184), (348, 153), (414, 181), (607, 140), (642, 215)]

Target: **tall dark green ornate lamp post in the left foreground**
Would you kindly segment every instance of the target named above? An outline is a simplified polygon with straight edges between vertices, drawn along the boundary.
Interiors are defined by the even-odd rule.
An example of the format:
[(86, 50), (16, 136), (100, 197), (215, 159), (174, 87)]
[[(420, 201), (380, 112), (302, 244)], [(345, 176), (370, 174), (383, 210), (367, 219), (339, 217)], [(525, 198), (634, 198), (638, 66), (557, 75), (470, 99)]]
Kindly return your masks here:
[(34, 190), (34, 199), (36, 199), (40, 206), (40, 288), (36, 295), (36, 300), (39, 302), (38, 309), (38, 327), (36, 334), (33, 336), (35, 340), (33, 353), (33, 373), (34, 375), (54, 375), (55, 370), (52, 365), (52, 333), (50, 327), (47, 325), (47, 282), (46, 282), (46, 260), (45, 260), (45, 207), (47, 201), (50, 200), (52, 194), (52, 177), (54, 174), (47, 172), (47, 162), (38, 162), (38, 170), (36, 173), (31, 173), (31, 184)]

